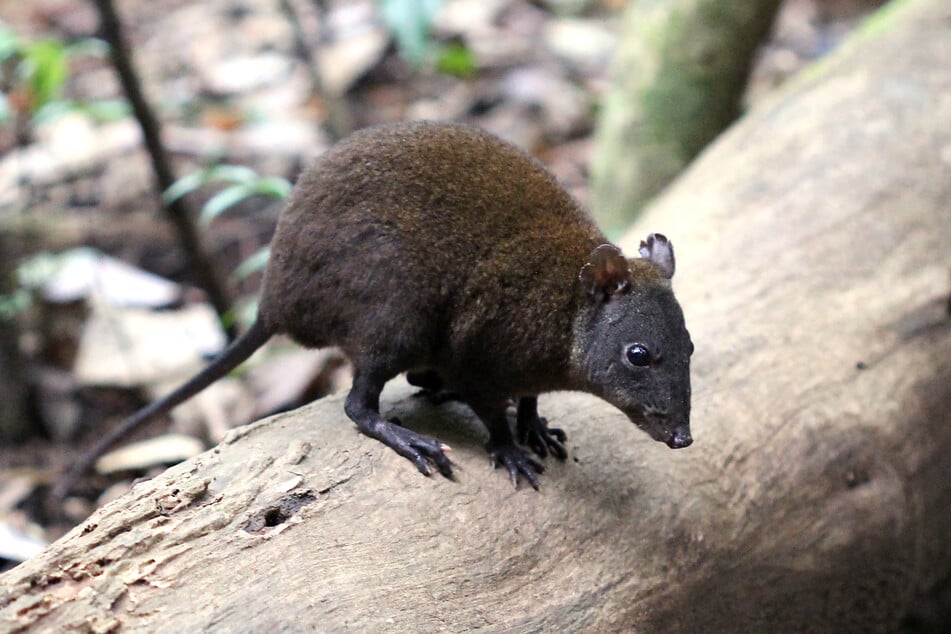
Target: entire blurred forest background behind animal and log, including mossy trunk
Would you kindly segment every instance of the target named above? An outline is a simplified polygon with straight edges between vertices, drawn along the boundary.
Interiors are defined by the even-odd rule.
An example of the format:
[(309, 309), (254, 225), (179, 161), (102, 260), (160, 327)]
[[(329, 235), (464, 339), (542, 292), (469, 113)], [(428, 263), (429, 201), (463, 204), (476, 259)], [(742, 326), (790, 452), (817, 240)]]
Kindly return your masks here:
[(0, 0), (0, 571), (230, 427), (349, 382), (278, 341), (76, 456), (253, 319), (301, 170), (349, 132), (462, 121), (533, 153), (612, 238), (881, 0)]

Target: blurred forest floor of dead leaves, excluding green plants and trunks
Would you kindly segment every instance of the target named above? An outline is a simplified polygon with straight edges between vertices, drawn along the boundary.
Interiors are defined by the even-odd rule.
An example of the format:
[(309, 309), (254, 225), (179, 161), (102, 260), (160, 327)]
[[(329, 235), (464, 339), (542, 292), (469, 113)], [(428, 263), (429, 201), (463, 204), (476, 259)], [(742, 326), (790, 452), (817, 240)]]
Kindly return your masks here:
[[(373, 0), (289, 3), (308, 40), (311, 53), (303, 56), (279, 2), (117, 4), (179, 176), (226, 163), (293, 182), (304, 165), (332, 145), (328, 113), (343, 112), (339, 127), (349, 129), (400, 119), (481, 126), (532, 151), (572, 193), (586, 199), (591, 132), (609, 81), (621, 0), (450, 0), (426, 42), (430, 60), (416, 66), (397, 50)], [(878, 4), (788, 0), (762, 48), (747, 102), (761, 99), (834, 48)], [(0, 16), (0, 26), (25, 40), (74, 41), (97, 28), (93, 3), (79, 0), (0, 0)], [(456, 58), (462, 76), (434, 67), (431, 59), (440, 55), (452, 65), (446, 51), (460, 43), (464, 47), (456, 49), (471, 55)], [(320, 89), (308, 63), (311, 56)], [(115, 99), (120, 92), (107, 60), (73, 60), (65, 97), (95, 101)], [(111, 313), (112, 319), (129, 320), (136, 340), (160, 339), (167, 332), (162, 328), (194, 335), (186, 338), (187, 350), (180, 354), (175, 342), (155, 343), (152, 358), (178, 355), (190, 370), (219, 347), (214, 318), (201, 308), (202, 294), (191, 287), (187, 258), (161, 215), (135, 121), (124, 116), (97, 122), (71, 113), (30, 126), (27, 138), (18, 138), (15, 127), (0, 127), (0, 232), (18, 236), (15, 252), (2, 257), (19, 261), (78, 246), (94, 248), (100, 263), (98, 254), (107, 254), (170, 281), (133, 276), (131, 290), (121, 293), (127, 300), (135, 295), (139, 299), (126, 303), (138, 301), (141, 307), (139, 295), (154, 288), (144, 303), (162, 308), (160, 314), (174, 325), (158, 323), (162, 318), (141, 320), (141, 311)], [(196, 207), (218, 190), (197, 191)], [(206, 242), (222, 270), (234, 270), (268, 242), (280, 209), (279, 201), (251, 197), (210, 225)], [(251, 275), (232, 283), (236, 295), (250, 298), (258, 279)], [(0, 446), (0, 571), (127, 490), (133, 477), (181, 459), (176, 452), (184, 457), (200, 451), (232, 424), (347, 385), (346, 367), (337, 355), (273, 353), (248, 373), (249, 380), (234, 381), (183, 417), (188, 420), (176, 420), (172, 429), (197, 437), (197, 445), (181, 434), (164, 434), (167, 421), (157, 421), (138, 437), (164, 434), (172, 457), (152, 446), (144, 449), (153, 452), (144, 462), (136, 458), (131, 466), (90, 477), (54, 519), (40, 501), (55, 475), (108, 425), (166, 389), (170, 374), (178, 376), (167, 364), (144, 375), (130, 373), (128, 357), (148, 357), (148, 352), (96, 347), (108, 339), (96, 328), (108, 323), (103, 326), (98, 309), (90, 306), (92, 295), (101, 299), (92, 292), (64, 295), (46, 289), (42, 301), (21, 315), (31, 411), (41, 433), (22, 444)], [(118, 357), (119, 369), (107, 362), (110, 353)]]

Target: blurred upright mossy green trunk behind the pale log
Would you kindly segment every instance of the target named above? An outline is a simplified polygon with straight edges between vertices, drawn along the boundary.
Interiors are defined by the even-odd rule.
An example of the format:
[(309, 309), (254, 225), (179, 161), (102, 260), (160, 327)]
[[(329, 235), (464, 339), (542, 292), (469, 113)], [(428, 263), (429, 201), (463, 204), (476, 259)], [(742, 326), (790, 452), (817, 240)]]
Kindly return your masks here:
[(740, 115), (780, 0), (632, 0), (591, 158), (591, 205), (613, 235)]

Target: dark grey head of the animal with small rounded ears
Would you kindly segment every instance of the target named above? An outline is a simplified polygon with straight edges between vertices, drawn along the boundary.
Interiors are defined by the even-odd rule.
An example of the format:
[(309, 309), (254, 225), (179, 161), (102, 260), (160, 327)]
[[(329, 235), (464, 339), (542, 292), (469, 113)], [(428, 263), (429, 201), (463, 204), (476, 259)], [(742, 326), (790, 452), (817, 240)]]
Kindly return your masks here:
[(673, 246), (654, 233), (640, 258), (603, 244), (579, 276), (586, 298), (575, 324), (576, 368), (585, 388), (672, 449), (690, 436), (693, 343), (670, 288)]

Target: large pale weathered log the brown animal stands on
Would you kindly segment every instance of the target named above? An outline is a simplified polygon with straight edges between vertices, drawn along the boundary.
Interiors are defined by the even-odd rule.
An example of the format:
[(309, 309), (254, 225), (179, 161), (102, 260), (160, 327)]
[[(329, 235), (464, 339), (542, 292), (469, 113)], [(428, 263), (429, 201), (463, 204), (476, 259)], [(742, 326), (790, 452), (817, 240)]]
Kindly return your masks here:
[(453, 482), (326, 399), (0, 577), (0, 630), (894, 629), (951, 571), (948, 18), (945, 0), (905, 5), (725, 135), (635, 232), (677, 245), (691, 448), (552, 395), (572, 457), (514, 491), (459, 405), (384, 398), (453, 446)]

